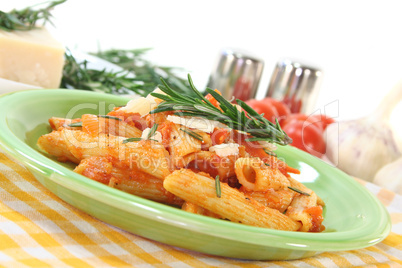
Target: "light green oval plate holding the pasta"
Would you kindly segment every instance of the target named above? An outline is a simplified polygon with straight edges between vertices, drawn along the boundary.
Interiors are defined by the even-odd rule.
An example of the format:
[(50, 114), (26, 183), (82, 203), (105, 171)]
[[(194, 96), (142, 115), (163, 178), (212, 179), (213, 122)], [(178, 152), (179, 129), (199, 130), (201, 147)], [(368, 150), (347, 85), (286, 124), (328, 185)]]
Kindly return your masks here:
[(74, 118), (106, 114), (123, 97), (80, 90), (29, 90), (0, 98), (0, 145), (23, 163), (45, 187), (67, 203), (121, 229), (173, 246), (218, 256), (290, 260), (324, 251), (374, 245), (390, 232), (390, 216), (378, 199), (338, 169), (298, 149), (278, 155), (300, 169), (296, 179), (325, 201), (322, 233), (245, 226), (159, 204), (92, 181), (73, 166), (40, 152), (36, 141), (50, 132), (51, 116)]

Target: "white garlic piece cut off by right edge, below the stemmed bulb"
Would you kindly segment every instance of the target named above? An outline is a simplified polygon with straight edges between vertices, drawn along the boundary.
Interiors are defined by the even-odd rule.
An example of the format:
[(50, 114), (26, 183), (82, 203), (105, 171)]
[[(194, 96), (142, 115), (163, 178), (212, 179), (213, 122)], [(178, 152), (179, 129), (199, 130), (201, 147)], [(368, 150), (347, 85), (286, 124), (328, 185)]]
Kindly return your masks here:
[(374, 176), (373, 183), (402, 195), (402, 157), (383, 166)]

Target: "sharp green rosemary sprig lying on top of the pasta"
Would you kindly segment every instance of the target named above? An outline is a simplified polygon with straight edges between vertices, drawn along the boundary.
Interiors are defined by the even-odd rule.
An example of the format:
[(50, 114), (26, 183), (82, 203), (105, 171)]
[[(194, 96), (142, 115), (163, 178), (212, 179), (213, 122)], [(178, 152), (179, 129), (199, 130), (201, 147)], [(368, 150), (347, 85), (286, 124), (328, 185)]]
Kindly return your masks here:
[(159, 85), (159, 88), (166, 95), (160, 93), (151, 93), (151, 95), (164, 101), (150, 113), (175, 111), (175, 114), (179, 116), (194, 116), (215, 120), (234, 130), (251, 135), (253, 138), (248, 139), (249, 141), (268, 141), (280, 145), (287, 145), (292, 142), (292, 139), (281, 129), (278, 121), (274, 124), (243, 101), (236, 100), (237, 104), (243, 109), (240, 112), (219, 93), (207, 88), (207, 93), (218, 101), (221, 110), (218, 109), (195, 88), (190, 75), (188, 75), (188, 81), (193, 91), (192, 95), (178, 93), (162, 78), (161, 81), (163, 85)]

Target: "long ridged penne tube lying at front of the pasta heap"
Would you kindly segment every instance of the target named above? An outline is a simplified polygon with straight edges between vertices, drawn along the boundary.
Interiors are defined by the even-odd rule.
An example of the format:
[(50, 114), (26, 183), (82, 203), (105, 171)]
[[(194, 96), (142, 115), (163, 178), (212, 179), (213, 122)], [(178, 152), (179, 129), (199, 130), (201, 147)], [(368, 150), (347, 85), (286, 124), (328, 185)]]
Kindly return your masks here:
[(165, 178), (163, 186), (185, 201), (232, 222), (289, 231), (300, 228), (300, 223), (278, 210), (265, 207), (226, 183), (220, 183), (221, 196), (218, 197), (215, 180), (205, 173), (197, 174), (188, 169), (176, 170)]

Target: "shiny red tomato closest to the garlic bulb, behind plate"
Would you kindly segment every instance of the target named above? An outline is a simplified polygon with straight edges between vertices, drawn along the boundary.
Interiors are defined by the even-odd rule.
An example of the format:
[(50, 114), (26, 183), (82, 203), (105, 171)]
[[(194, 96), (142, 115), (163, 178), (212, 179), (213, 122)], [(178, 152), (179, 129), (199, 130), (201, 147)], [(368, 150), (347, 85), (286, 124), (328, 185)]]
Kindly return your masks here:
[(325, 153), (325, 140), (322, 136), (322, 130), (314, 124), (294, 120), (282, 129), (292, 138), (293, 142), (290, 145), (317, 157), (321, 157)]

